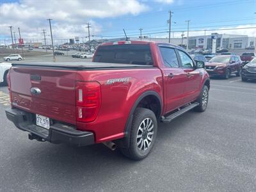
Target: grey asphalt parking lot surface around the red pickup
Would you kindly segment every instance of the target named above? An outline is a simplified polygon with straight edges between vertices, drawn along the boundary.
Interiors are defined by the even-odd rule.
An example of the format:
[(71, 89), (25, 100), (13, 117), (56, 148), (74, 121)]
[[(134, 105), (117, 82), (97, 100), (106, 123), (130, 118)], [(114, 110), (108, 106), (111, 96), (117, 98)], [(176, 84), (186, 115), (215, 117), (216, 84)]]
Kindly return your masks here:
[(104, 145), (28, 140), (0, 86), (0, 191), (256, 191), (256, 83), (212, 79), (209, 106), (160, 124), (154, 150), (131, 161)]

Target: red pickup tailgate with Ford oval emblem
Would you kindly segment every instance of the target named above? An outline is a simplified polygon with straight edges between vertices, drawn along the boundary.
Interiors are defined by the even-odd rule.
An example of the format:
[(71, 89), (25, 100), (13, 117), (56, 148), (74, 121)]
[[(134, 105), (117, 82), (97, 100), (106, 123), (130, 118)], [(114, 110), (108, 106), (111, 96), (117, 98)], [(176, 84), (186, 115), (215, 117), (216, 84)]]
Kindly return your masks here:
[(10, 82), (13, 107), (76, 124), (76, 70), (14, 66)]

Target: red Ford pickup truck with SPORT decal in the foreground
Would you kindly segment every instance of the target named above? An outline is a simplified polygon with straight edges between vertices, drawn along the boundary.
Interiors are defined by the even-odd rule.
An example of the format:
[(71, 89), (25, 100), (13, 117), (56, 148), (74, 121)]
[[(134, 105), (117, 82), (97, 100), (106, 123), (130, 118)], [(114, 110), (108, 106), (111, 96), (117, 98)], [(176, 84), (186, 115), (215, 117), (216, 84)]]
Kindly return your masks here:
[(89, 63), (13, 64), (8, 81), (6, 116), (30, 140), (104, 143), (136, 160), (152, 149), (158, 122), (205, 111), (210, 88), (203, 61), (141, 41), (102, 44)]

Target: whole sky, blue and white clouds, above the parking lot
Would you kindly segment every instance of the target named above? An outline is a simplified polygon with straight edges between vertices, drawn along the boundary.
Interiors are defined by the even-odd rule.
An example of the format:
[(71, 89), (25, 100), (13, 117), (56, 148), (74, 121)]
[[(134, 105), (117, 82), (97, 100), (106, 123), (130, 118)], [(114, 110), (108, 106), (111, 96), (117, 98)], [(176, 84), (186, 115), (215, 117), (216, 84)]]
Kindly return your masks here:
[[(128, 36), (138, 36), (143, 28), (143, 35), (166, 37), (168, 33), (163, 32), (168, 31), (169, 10), (176, 22), (172, 23), (174, 37), (186, 31), (185, 20), (191, 20), (191, 35), (203, 35), (204, 29), (256, 27), (256, 0), (0, 0), (0, 44), (10, 42), (10, 25), (16, 33), (20, 27), (25, 39), (42, 39), (43, 28), (49, 38), (49, 17), (56, 39), (88, 36), (88, 21), (95, 38), (123, 36), (123, 28)], [(256, 28), (207, 34), (212, 32), (256, 36)]]

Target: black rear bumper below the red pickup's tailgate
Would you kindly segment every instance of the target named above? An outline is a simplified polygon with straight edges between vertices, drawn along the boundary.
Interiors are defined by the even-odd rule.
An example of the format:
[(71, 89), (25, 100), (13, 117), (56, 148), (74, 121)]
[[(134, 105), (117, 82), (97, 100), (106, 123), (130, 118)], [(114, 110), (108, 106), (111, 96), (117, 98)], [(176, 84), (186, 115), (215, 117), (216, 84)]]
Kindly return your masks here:
[(6, 117), (22, 131), (30, 132), (29, 138), (41, 138), (51, 143), (68, 143), (77, 147), (94, 144), (93, 132), (79, 131), (70, 125), (56, 123), (50, 129), (35, 125), (33, 114), (20, 109), (6, 109)]

